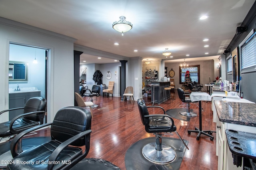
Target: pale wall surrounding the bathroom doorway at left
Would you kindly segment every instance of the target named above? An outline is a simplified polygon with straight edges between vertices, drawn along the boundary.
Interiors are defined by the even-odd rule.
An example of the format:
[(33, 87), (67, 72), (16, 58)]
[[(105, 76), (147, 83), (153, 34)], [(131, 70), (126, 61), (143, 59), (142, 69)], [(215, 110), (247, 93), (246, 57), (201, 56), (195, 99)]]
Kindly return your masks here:
[[(74, 106), (74, 41), (75, 39), (0, 18), (0, 110), (8, 109), (8, 63), (9, 43), (42, 47), (50, 50), (48, 60), (47, 121), (51, 122), (56, 112), (66, 106)], [(7, 121), (8, 115), (0, 115)]]

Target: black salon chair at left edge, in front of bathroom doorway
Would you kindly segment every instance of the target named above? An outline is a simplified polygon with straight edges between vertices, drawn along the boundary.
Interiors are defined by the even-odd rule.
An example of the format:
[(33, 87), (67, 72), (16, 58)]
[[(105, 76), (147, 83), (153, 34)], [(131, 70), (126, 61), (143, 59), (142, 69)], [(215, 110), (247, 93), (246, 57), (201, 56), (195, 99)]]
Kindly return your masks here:
[(46, 109), (46, 99), (33, 97), (28, 99), (24, 107), (7, 109), (0, 112), (0, 115), (7, 111), (23, 109), (23, 114), (14, 117), (11, 121), (0, 123), (0, 141), (4, 137), (11, 137), (44, 123), (44, 114)]

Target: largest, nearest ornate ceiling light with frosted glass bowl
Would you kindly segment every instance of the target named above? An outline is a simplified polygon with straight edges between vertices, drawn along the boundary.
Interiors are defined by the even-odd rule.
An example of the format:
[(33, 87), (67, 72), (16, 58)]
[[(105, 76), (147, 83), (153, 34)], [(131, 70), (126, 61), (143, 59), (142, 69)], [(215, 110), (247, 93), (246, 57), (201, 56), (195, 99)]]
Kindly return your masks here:
[(129, 31), (130, 29), (132, 29), (132, 23), (126, 21), (126, 17), (125, 16), (120, 16), (119, 17), (120, 20), (119, 21), (114, 21), (114, 23), (112, 24), (112, 27), (118, 31), (122, 33), (122, 36), (124, 35), (124, 32)]

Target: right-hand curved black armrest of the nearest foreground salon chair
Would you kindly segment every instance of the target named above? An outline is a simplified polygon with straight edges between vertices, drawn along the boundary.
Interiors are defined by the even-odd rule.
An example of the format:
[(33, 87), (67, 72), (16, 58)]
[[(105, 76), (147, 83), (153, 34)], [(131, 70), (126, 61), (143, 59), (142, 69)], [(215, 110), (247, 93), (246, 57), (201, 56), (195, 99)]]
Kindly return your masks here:
[[(71, 143), (73, 143), (74, 141), (76, 141), (77, 139), (86, 136), (88, 134), (90, 134), (92, 132), (92, 130), (87, 130), (87, 131), (83, 131), (81, 133), (78, 133), (77, 135), (71, 137), (70, 139), (64, 141), (63, 143), (61, 143), (56, 149), (54, 149), (54, 151), (52, 152), (51, 156), (49, 157), (49, 161), (56, 161), (58, 156), (60, 155), (60, 152), (65, 149), (68, 145), (70, 145)], [(90, 139), (88, 141), (86, 141), (86, 147), (85, 147), (85, 151), (84, 154), (82, 154), (84, 157), (88, 154), (89, 152), (89, 148), (88, 146), (90, 146)], [(48, 170), (52, 170), (54, 168), (54, 164), (48, 164)]]

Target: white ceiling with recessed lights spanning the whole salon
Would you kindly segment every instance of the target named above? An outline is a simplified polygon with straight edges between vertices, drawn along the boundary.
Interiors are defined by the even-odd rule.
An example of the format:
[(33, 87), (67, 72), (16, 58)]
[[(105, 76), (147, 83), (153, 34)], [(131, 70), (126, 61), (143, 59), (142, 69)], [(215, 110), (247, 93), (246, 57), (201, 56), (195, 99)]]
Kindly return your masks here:
[[(77, 39), (78, 45), (125, 57), (167, 62), (194, 57), (218, 58), (255, 0), (0, 0), (0, 17)], [(199, 20), (200, 16), (209, 16)], [(125, 16), (133, 27), (124, 33), (112, 23)], [(208, 42), (203, 39), (208, 38)], [(119, 45), (114, 45), (118, 42)], [(204, 47), (209, 45), (209, 47)], [(138, 52), (134, 52), (137, 49)], [(209, 53), (206, 55), (205, 53)], [(189, 54), (189, 57), (186, 55)], [(88, 63), (114, 59), (81, 55)], [(118, 58), (116, 58), (118, 60)], [(203, 59), (203, 58), (201, 58)], [(208, 58), (206, 58), (208, 59)], [(118, 61), (117, 61), (118, 62)]]

